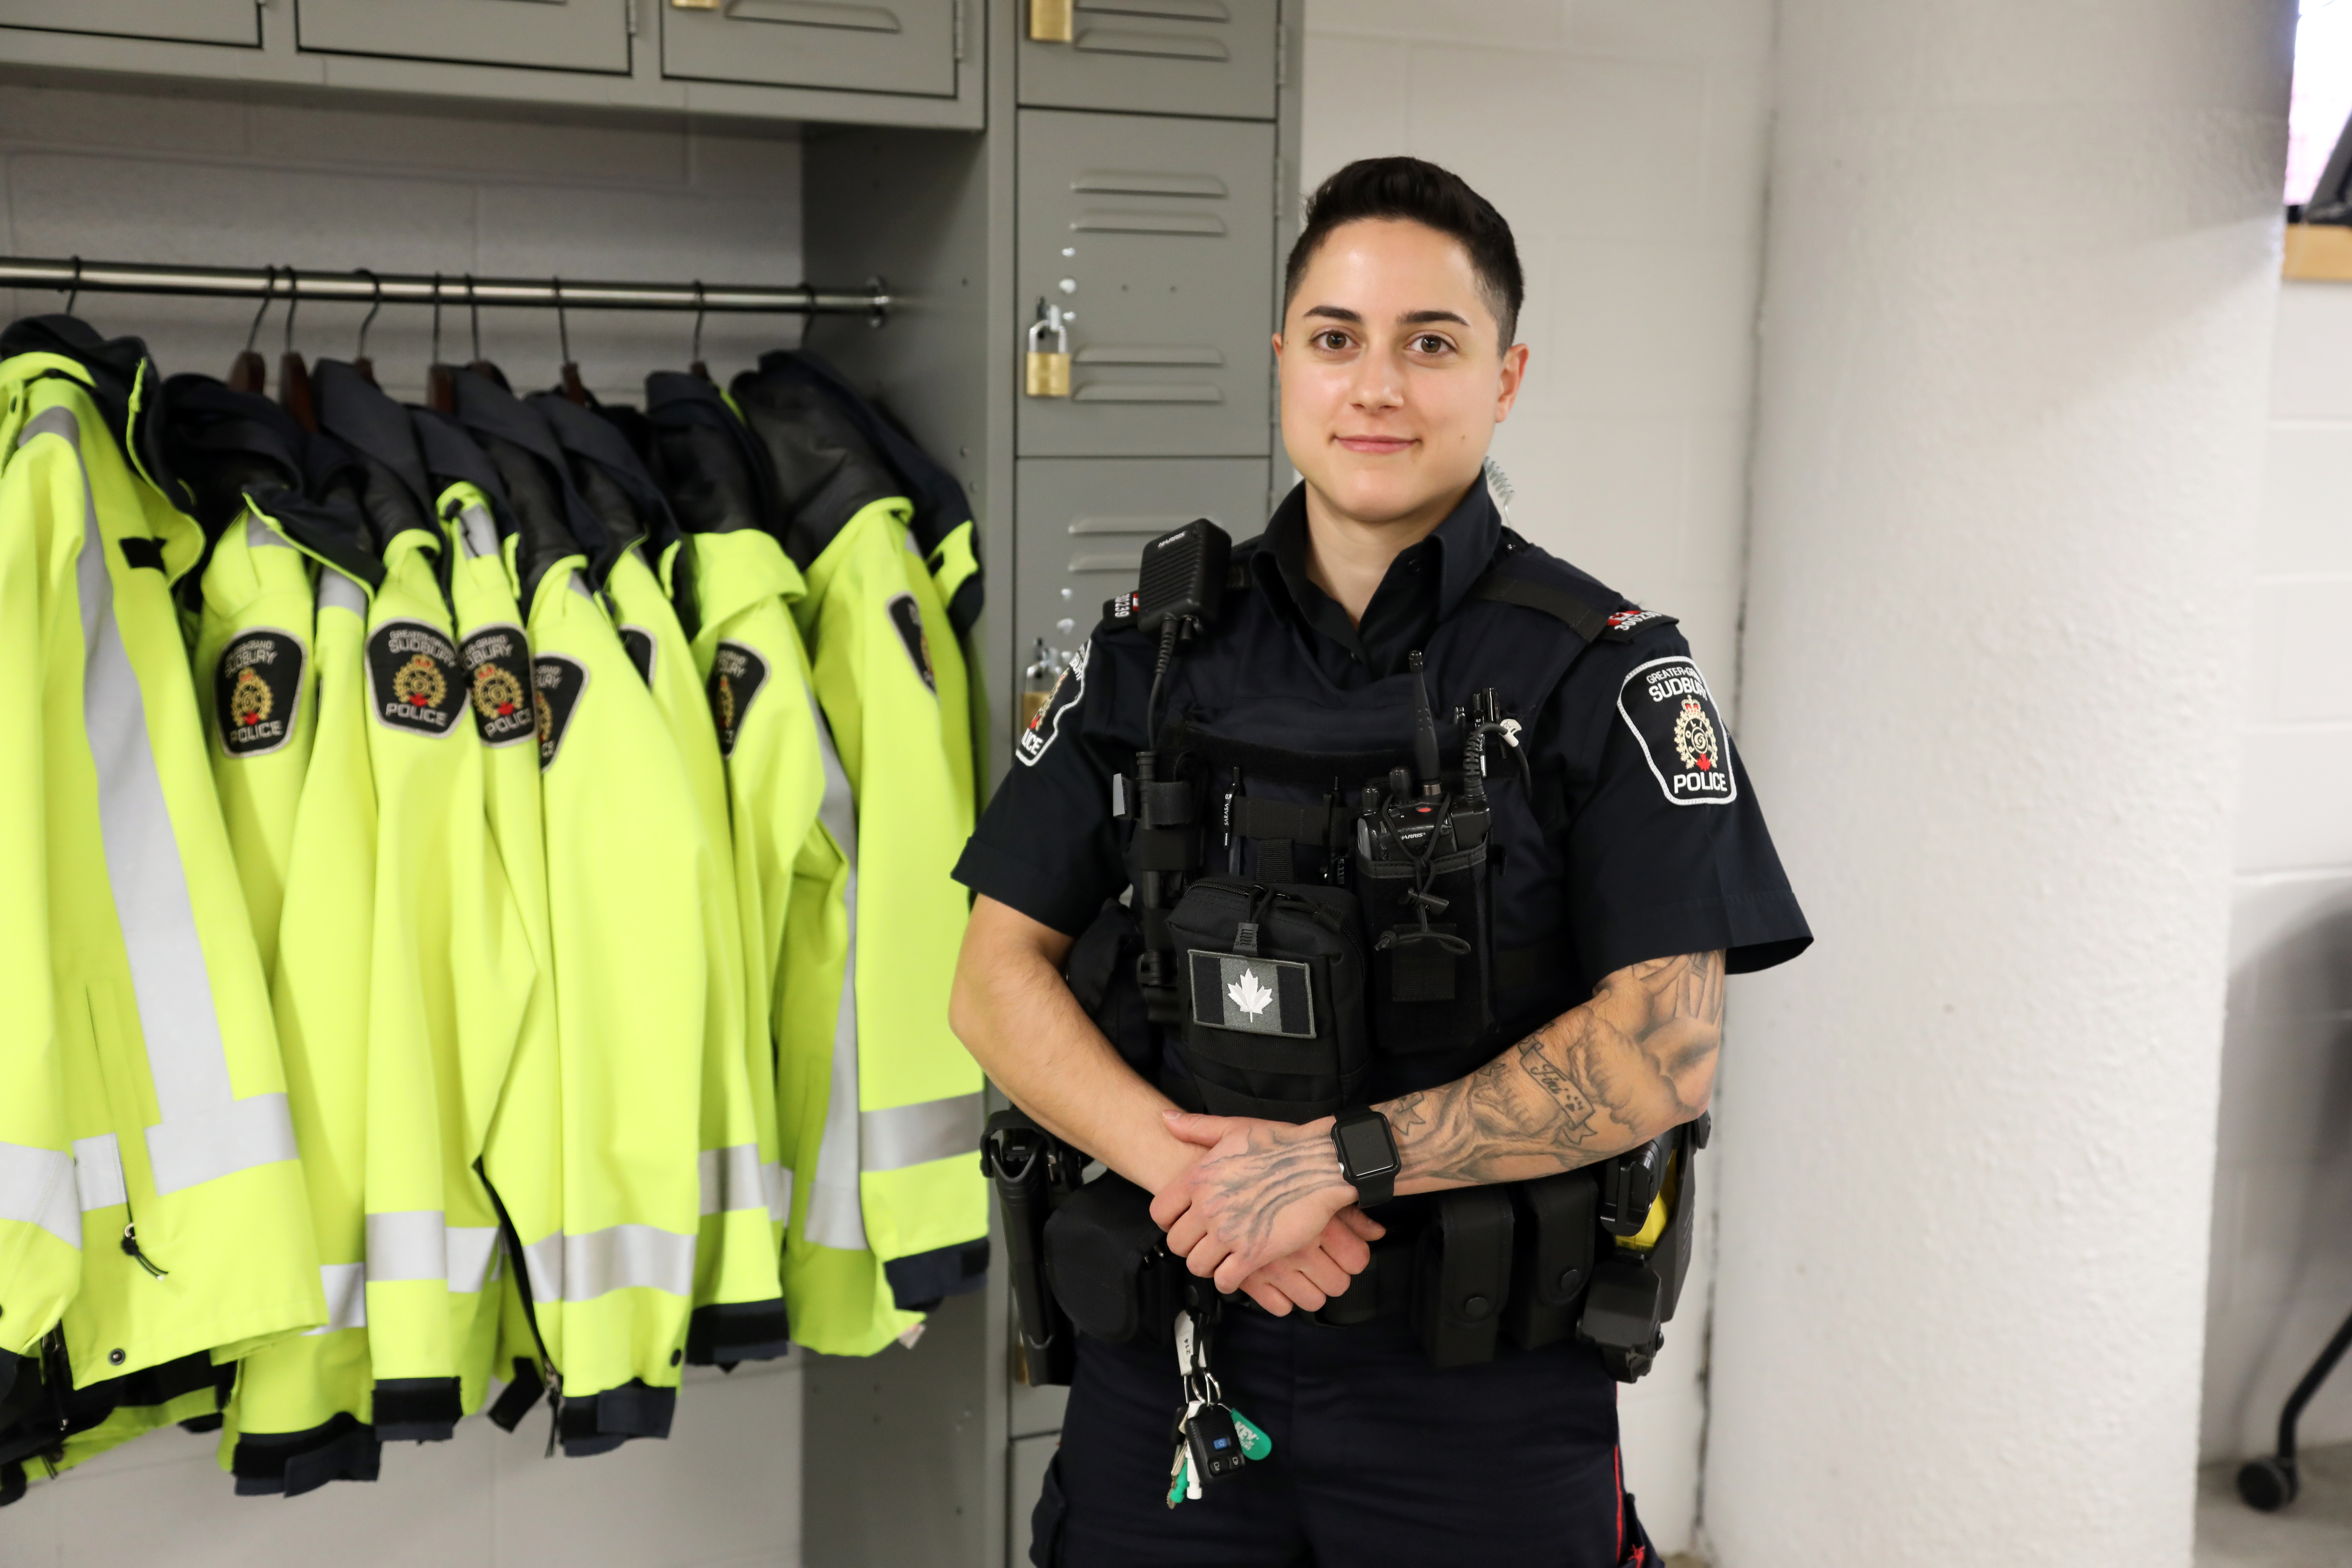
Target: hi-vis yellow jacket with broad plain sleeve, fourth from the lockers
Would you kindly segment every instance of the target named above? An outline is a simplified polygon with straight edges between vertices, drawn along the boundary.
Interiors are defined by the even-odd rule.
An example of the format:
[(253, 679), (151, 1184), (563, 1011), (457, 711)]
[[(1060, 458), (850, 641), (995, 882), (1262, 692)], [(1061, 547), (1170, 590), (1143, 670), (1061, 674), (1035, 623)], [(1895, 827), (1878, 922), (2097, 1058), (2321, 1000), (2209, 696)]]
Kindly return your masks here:
[(506, 489), (539, 703), (562, 1098), (536, 1135), (562, 1152), (564, 1218), (522, 1265), (564, 1450), (602, 1453), (668, 1436), (677, 1399), (717, 893), (684, 764), (588, 581), (595, 522), (560, 449), (485, 376), (459, 371), (456, 411)]

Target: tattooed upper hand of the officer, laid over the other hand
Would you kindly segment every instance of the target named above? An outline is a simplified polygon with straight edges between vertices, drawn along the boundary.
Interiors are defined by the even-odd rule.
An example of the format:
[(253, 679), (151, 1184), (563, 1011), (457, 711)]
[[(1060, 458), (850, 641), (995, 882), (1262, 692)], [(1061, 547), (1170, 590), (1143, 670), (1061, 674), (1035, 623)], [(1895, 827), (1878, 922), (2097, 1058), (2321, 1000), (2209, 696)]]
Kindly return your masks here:
[(1319, 1239), (1355, 1185), (1338, 1168), (1331, 1117), (1291, 1126), (1251, 1117), (1164, 1112), (1169, 1131), (1209, 1150), (1160, 1190), (1152, 1220), (1169, 1251), (1218, 1291)]

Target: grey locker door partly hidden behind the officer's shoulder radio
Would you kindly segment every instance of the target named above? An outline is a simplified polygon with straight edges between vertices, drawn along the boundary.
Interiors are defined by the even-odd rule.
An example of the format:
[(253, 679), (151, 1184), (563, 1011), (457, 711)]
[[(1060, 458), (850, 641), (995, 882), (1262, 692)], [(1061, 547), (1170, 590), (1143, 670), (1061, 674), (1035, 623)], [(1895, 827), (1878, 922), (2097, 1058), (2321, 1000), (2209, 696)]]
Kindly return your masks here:
[[(1014, 465), (1014, 654), (1075, 654), (1103, 599), (1131, 592), (1143, 545), (1209, 517), (1265, 527), (1265, 458), (1028, 458)], [(1018, 705), (1014, 705), (1018, 712)]]

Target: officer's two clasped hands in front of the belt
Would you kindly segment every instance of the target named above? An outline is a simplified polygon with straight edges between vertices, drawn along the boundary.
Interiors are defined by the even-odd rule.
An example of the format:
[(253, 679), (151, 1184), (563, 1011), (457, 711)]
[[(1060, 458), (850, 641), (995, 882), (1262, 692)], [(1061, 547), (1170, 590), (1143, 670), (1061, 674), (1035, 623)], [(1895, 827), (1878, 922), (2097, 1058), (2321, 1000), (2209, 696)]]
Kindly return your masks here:
[(1202, 1154), (1152, 1199), (1169, 1251), (1218, 1291), (1275, 1316), (1319, 1309), (1371, 1262), (1388, 1229), (1355, 1206), (1331, 1147), (1331, 1117), (1294, 1126), (1164, 1112)]

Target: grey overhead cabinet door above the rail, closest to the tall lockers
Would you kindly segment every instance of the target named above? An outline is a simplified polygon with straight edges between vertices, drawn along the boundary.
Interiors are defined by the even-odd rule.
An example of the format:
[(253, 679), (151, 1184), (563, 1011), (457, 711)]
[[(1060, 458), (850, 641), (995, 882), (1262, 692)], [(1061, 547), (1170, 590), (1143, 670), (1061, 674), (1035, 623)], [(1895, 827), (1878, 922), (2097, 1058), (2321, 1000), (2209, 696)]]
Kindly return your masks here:
[(955, 0), (715, 0), (661, 12), (661, 73), (955, 96)]

